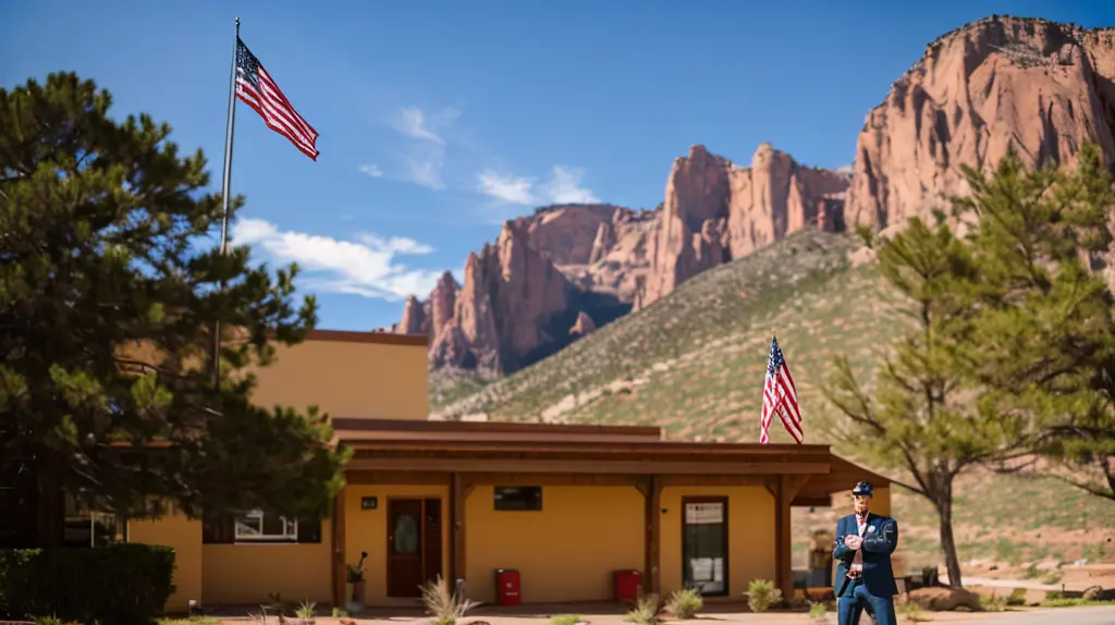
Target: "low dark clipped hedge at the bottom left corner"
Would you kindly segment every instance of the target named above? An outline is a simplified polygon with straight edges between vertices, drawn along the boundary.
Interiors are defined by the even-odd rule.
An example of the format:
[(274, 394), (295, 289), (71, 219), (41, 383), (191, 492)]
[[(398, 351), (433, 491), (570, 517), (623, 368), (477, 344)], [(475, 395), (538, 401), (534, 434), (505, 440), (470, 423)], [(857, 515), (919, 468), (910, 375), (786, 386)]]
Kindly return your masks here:
[(0, 549), (0, 616), (147, 625), (174, 592), (173, 578), (169, 547)]

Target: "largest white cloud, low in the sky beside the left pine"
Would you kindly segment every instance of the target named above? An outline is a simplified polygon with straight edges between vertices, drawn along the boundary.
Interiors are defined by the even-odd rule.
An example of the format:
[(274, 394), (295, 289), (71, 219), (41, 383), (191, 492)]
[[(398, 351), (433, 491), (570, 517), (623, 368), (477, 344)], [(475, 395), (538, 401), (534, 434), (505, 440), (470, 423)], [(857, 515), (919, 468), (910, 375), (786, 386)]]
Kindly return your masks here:
[(237, 245), (252, 245), (307, 272), (311, 290), (399, 301), (434, 289), (440, 272), (407, 267), (398, 256), (429, 254), (433, 247), (413, 238), (358, 234), (352, 241), (282, 231), (265, 219), (241, 218), (232, 227)]

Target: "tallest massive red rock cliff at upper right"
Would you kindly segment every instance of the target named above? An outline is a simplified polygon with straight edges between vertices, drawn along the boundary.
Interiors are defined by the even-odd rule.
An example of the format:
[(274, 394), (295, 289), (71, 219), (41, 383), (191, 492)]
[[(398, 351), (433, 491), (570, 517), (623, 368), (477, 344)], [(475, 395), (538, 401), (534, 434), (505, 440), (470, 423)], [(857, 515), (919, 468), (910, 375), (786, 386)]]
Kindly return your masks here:
[(990, 17), (943, 35), (891, 85), (856, 140), (845, 215), (885, 228), (969, 193), (1014, 147), (1029, 166), (1072, 164), (1084, 140), (1115, 155), (1112, 30)]

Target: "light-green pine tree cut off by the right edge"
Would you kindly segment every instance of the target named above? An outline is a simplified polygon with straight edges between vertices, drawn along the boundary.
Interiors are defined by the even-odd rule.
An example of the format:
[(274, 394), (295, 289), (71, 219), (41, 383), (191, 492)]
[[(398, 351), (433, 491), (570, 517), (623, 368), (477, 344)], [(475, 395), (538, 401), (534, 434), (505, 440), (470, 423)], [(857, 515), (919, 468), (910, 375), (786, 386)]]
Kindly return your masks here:
[(1103, 272), (1112, 178), (1093, 144), (1072, 169), (1024, 172), (1008, 155), (990, 179), (964, 168), (980, 314), (966, 358), (996, 409), (1032, 424), (1054, 475), (1115, 500), (1115, 297)]

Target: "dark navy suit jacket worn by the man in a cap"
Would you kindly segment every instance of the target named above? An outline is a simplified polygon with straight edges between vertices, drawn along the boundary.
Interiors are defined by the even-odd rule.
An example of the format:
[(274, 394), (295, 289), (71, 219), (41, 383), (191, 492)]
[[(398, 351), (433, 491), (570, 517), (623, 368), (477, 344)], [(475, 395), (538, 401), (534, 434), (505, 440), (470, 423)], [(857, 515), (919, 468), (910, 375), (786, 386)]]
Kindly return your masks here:
[[(844, 537), (860, 534), (860, 526), (855, 523), (855, 515), (849, 515), (836, 521), (836, 548), (833, 550), (833, 559), (836, 560), (836, 577), (833, 578), (833, 589), (840, 593), (844, 586), (844, 594), (852, 592), (851, 584), (845, 585), (847, 569), (852, 566), (855, 551), (844, 546)], [(876, 597), (892, 597), (899, 594), (899, 587), (894, 583), (894, 569), (891, 568), (891, 554), (899, 545), (899, 524), (890, 517), (883, 517), (873, 512), (867, 512), (867, 526), (863, 530), (863, 585), (867, 592)]]

